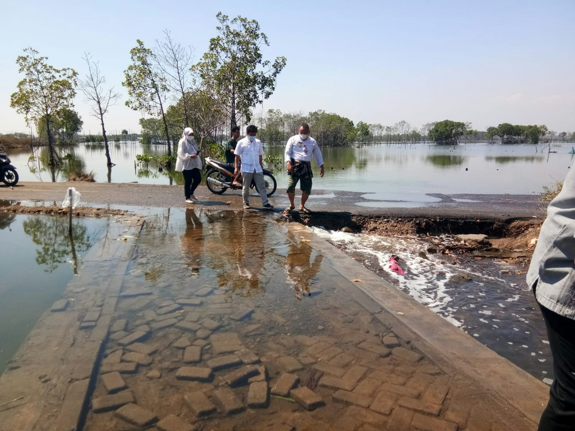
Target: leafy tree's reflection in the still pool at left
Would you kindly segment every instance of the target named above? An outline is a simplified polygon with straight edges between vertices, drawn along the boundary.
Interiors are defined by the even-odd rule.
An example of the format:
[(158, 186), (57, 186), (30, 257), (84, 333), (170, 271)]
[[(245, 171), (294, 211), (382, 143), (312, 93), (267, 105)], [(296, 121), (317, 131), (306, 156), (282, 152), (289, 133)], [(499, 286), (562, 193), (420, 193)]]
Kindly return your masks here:
[[(57, 217), (29, 217), (22, 223), (24, 232), (32, 238), (34, 244), (39, 245), (36, 250), (36, 263), (45, 265), (44, 271), (52, 272), (66, 262), (72, 254), (72, 244), (68, 236), (68, 221)], [(76, 252), (83, 252), (90, 248), (90, 237), (87, 227), (83, 224), (72, 224), (72, 238)]]

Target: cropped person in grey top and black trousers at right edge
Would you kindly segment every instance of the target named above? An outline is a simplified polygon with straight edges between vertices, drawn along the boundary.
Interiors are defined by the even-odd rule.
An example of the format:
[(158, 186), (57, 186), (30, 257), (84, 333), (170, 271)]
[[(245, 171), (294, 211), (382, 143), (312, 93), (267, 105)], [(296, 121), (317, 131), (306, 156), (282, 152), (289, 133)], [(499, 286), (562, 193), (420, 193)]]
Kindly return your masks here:
[(539, 431), (575, 430), (575, 168), (547, 208), (527, 283), (543, 313), (555, 373)]

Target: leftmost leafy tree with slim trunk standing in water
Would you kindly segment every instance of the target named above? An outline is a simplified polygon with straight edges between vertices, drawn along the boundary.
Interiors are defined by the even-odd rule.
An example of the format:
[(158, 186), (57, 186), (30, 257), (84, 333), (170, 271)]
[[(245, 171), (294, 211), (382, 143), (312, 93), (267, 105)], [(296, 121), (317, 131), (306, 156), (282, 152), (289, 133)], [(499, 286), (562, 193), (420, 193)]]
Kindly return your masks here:
[(18, 91), (11, 95), (10, 106), (19, 114), (24, 114), (28, 125), (44, 117), (48, 135), (48, 164), (54, 166), (60, 162), (56, 160), (54, 149), (52, 117), (60, 110), (74, 106), (72, 99), (76, 95), (78, 74), (71, 68), (56, 69), (47, 64), (48, 57), (40, 57), (32, 47), (25, 48), (24, 54), (16, 59), (18, 72), (24, 74), (24, 79), (18, 83)]

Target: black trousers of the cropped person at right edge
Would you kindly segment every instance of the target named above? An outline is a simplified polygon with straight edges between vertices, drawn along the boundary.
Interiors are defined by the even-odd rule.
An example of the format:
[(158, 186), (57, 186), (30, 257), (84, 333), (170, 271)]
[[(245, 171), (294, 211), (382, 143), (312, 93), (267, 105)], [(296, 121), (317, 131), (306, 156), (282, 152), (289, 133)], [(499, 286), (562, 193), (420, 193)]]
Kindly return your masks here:
[(575, 320), (539, 306), (553, 355), (555, 379), (539, 431), (575, 429)]

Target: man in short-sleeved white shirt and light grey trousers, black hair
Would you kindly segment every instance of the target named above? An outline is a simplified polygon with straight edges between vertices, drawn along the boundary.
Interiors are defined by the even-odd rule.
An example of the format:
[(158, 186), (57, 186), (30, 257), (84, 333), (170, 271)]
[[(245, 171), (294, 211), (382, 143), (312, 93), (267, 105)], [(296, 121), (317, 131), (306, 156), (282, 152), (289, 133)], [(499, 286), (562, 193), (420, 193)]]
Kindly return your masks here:
[(259, 197), (262, 198), (262, 206), (272, 209), (274, 206), (267, 201), (266, 182), (263, 179), (263, 147), (262, 142), (256, 139), (258, 128), (250, 125), (246, 129), (246, 137), (237, 141), (235, 151), (236, 168), (234, 175), (239, 174), (237, 165), (241, 160), (241, 176), (244, 179), (241, 195), (244, 199), (244, 209), (250, 209), (250, 184), (252, 179), (259, 190)]

